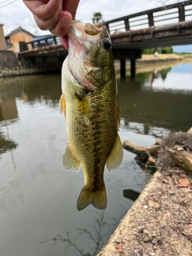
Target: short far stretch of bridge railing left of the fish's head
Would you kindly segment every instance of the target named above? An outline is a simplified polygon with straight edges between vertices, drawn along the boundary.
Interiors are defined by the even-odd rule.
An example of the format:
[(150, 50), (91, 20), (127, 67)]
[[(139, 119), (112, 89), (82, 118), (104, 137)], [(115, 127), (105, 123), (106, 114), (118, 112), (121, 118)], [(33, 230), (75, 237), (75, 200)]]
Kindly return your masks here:
[(20, 42), (20, 52), (31, 51), (46, 46), (53, 46), (61, 44), (58, 35), (50, 35), (45, 38), (39, 38), (31, 42)]

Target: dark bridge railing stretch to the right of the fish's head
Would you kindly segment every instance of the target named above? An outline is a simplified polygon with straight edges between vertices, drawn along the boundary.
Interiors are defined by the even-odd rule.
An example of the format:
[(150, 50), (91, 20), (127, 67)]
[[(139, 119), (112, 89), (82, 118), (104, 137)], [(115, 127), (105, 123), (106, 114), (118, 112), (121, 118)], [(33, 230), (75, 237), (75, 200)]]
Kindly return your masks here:
[(192, 0), (111, 19), (105, 26), (113, 34), (188, 20), (192, 20)]

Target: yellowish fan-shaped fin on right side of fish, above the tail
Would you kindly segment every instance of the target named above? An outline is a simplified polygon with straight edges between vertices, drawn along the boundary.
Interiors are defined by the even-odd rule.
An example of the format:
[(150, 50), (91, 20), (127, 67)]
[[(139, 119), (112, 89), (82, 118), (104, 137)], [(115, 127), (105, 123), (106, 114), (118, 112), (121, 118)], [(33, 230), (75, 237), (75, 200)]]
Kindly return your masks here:
[(112, 172), (113, 170), (117, 169), (117, 167), (122, 162), (122, 158), (123, 158), (123, 147), (122, 147), (119, 135), (117, 134), (111, 153), (106, 159), (106, 167), (108, 167), (108, 170)]

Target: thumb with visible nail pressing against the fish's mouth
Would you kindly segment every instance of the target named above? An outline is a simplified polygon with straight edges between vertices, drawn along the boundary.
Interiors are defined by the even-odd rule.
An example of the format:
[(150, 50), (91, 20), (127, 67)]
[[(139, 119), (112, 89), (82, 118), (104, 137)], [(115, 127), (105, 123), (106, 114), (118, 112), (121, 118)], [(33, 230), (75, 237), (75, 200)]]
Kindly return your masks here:
[(70, 28), (72, 16), (69, 12), (61, 12), (57, 25), (49, 31), (61, 37), (65, 36)]

